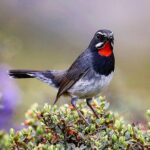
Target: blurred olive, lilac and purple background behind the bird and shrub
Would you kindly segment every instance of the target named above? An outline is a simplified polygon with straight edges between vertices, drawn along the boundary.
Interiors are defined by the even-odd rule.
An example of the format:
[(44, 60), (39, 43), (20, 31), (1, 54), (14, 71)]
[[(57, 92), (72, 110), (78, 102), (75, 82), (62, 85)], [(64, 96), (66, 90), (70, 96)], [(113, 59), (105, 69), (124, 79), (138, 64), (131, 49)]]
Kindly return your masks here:
[[(33, 103), (53, 103), (57, 92), (37, 80), (10, 79), (8, 69), (68, 68), (103, 28), (114, 32), (116, 71), (102, 95), (111, 110), (144, 123), (150, 108), (149, 6), (147, 0), (1, 0), (0, 128), (19, 126)], [(69, 102), (61, 98), (58, 104)]]

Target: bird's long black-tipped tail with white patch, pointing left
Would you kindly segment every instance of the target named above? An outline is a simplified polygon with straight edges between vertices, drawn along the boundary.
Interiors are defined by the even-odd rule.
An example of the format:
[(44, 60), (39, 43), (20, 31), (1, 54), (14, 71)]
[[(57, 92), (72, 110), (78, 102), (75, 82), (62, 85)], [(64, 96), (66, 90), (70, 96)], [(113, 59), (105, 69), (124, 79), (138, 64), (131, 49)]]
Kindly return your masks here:
[(9, 76), (17, 79), (36, 78), (51, 86), (59, 87), (65, 71), (9, 70)]

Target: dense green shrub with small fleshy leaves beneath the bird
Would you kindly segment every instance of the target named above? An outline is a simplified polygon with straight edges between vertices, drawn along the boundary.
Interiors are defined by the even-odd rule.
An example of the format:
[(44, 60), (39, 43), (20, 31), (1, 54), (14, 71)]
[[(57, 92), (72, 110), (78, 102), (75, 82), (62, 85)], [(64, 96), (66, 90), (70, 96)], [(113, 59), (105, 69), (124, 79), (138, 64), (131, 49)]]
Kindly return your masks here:
[(125, 123), (118, 114), (107, 110), (108, 103), (103, 98), (94, 100), (92, 105), (100, 119), (93, 115), (85, 102), (78, 105), (90, 123), (87, 126), (72, 106), (65, 104), (58, 108), (45, 104), (40, 108), (35, 104), (26, 113), (24, 129), (16, 132), (11, 129), (9, 135), (0, 133), (0, 149), (150, 149), (150, 123), (145, 130)]

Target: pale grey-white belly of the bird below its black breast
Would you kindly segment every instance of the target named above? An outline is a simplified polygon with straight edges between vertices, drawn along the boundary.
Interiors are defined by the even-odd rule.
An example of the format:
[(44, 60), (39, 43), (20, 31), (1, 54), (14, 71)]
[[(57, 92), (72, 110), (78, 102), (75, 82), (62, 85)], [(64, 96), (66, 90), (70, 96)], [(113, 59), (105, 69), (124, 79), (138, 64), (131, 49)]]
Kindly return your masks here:
[(111, 81), (113, 73), (108, 76), (99, 75), (91, 79), (80, 79), (68, 91), (72, 96), (79, 98), (91, 98), (97, 96), (103, 88), (108, 86)]

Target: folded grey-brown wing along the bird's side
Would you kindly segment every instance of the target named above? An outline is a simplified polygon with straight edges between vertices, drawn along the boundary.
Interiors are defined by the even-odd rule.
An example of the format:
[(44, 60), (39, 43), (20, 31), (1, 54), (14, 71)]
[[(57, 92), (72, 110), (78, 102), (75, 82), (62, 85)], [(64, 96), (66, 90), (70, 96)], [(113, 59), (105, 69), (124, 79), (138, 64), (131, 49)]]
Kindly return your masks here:
[(62, 94), (67, 92), (79, 79), (87, 74), (90, 69), (88, 58), (85, 52), (82, 53), (68, 69), (66, 75), (61, 80), (54, 104)]

